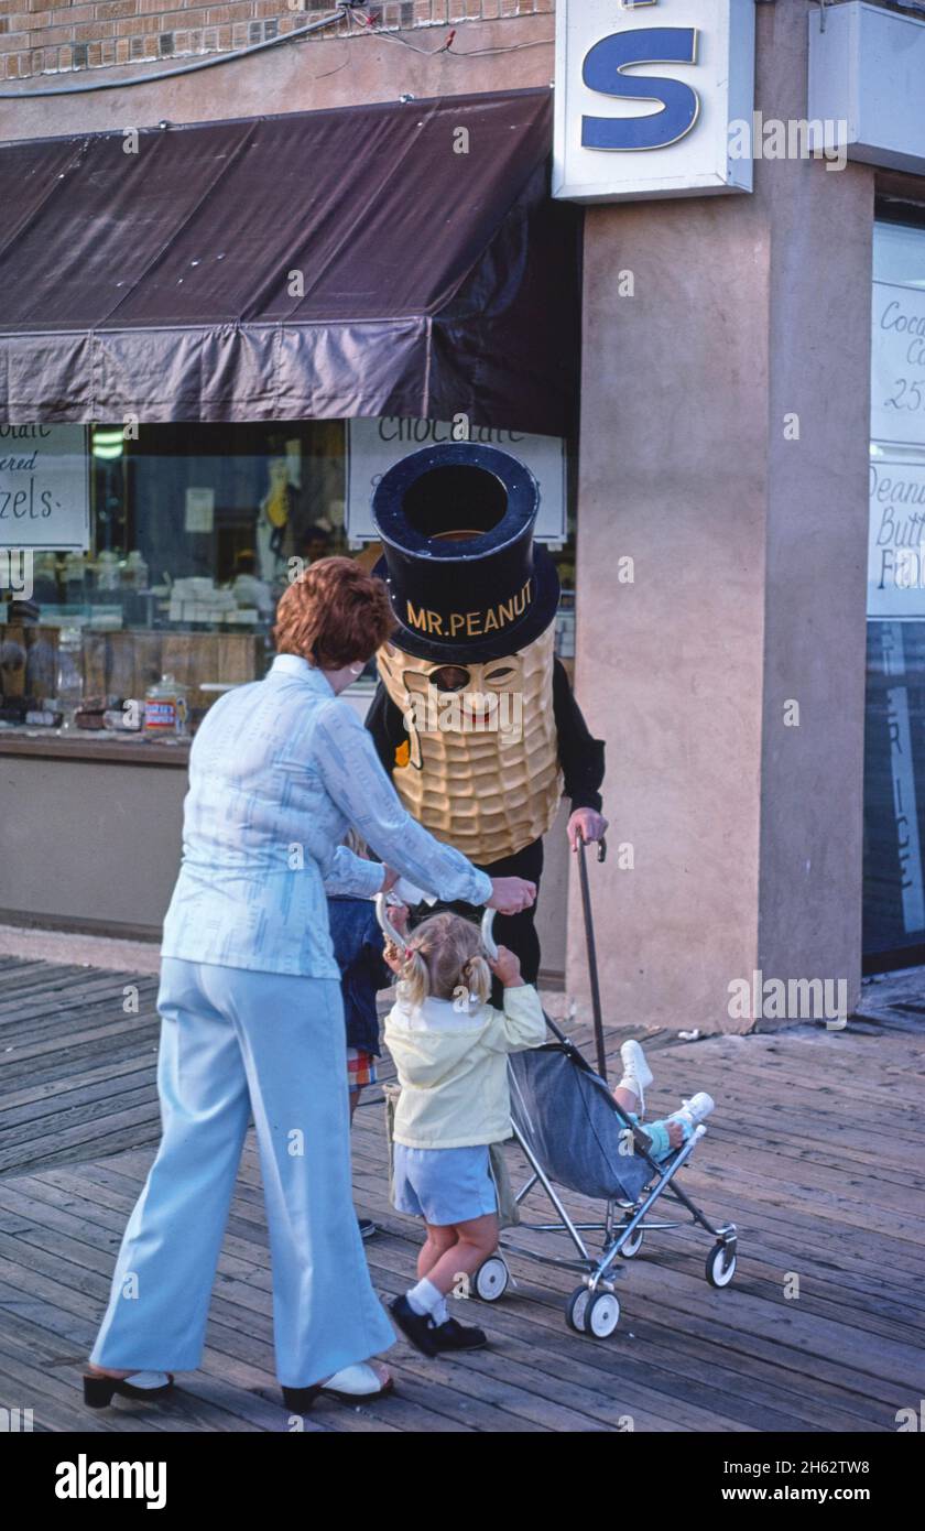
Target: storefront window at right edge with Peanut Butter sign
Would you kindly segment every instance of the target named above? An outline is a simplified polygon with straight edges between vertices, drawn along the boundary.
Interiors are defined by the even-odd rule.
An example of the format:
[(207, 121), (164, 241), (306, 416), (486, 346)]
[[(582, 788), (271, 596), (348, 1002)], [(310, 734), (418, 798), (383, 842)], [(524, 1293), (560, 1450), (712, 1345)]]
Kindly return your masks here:
[(925, 227), (874, 227), (864, 952), (925, 949)]

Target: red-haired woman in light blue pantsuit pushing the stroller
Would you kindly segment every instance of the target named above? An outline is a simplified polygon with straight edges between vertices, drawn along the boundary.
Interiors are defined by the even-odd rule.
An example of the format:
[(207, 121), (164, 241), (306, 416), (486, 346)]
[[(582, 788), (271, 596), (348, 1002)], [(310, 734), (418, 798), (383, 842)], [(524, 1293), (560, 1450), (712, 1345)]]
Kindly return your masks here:
[[(337, 695), (394, 628), (384, 586), (323, 559), (277, 611), (262, 681), (214, 703), (190, 752), (184, 857), (164, 922), (162, 1141), (129, 1219), (84, 1396), (152, 1398), (199, 1366), (253, 1115), (270, 1225), (276, 1361), (289, 1407), (391, 1389), (394, 1343), (351, 1193), (340, 974), (326, 894), (398, 873), (441, 899), (518, 912), (533, 883), (478, 871), (401, 807)], [(387, 862), (340, 842), (354, 825)], [(391, 870), (395, 868), (395, 870)]]

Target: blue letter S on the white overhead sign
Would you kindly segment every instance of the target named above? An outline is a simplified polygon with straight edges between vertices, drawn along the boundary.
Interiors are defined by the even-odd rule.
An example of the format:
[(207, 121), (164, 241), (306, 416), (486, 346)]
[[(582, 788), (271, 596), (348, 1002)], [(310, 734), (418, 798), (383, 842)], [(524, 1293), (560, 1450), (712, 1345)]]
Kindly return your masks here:
[(689, 133), (700, 96), (681, 80), (634, 78), (631, 64), (695, 64), (697, 28), (651, 26), (602, 37), (588, 52), (582, 78), (591, 90), (619, 101), (660, 101), (648, 116), (583, 116), (585, 149), (666, 149)]

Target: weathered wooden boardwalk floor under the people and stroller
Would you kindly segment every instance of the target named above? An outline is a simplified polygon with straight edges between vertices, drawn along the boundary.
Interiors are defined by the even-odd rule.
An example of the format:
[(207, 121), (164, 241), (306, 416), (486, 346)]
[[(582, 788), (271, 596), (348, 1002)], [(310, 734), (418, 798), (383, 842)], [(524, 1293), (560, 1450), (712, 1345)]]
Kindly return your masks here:
[[(138, 1014), (123, 1009), (127, 984), (138, 987)], [(893, 991), (874, 987), (862, 1024), (841, 1033), (801, 1026), (683, 1043), (643, 1026), (608, 1029), (611, 1067), (628, 1035), (645, 1038), (657, 1075), (651, 1115), (695, 1089), (717, 1099), (683, 1183), (711, 1217), (740, 1228), (732, 1288), (706, 1285), (703, 1234), (649, 1234), (620, 1266), (620, 1326), (596, 1343), (564, 1323), (576, 1275), (510, 1255), (510, 1294), (462, 1314), (487, 1329), (489, 1350), (430, 1363), (400, 1343), (389, 1352), (397, 1396), (325, 1402), (305, 1428), (894, 1430), (923, 1375), (925, 981), (907, 974)], [(0, 958), (0, 1405), (32, 1407), (40, 1431), (289, 1430), (274, 1379), (253, 1133), (201, 1370), (181, 1379), (170, 1405), (119, 1401), (98, 1415), (81, 1405), (83, 1358), (159, 1136), (155, 1000), (150, 975)], [(568, 1012), (564, 995), (550, 1003)], [(588, 1026), (568, 1029), (587, 1047)], [(380, 1076), (391, 1075), (383, 1059)], [(387, 1205), (378, 1090), (357, 1112), (352, 1141), (355, 1203), (381, 1229), (366, 1252), (387, 1300), (413, 1280), (418, 1229)], [(516, 1180), (516, 1150), (510, 1159)], [(599, 1214), (583, 1197), (567, 1202), (580, 1219)], [(528, 1208), (548, 1219), (534, 1193)], [(539, 1234), (516, 1239), (553, 1248)], [(789, 1272), (799, 1277), (796, 1300), (786, 1295)]]

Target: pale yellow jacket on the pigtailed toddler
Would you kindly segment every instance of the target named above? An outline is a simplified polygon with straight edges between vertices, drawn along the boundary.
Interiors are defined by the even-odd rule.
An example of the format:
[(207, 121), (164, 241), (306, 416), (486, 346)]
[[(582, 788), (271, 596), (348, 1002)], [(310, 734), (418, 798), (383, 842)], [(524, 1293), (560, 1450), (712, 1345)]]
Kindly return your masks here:
[(504, 1010), (452, 1000), (401, 1000), (386, 1017), (384, 1041), (395, 1059), (401, 1098), (394, 1139), (406, 1148), (469, 1148), (510, 1138), (507, 1055), (539, 1047), (547, 1024), (533, 984), (504, 991)]

